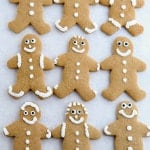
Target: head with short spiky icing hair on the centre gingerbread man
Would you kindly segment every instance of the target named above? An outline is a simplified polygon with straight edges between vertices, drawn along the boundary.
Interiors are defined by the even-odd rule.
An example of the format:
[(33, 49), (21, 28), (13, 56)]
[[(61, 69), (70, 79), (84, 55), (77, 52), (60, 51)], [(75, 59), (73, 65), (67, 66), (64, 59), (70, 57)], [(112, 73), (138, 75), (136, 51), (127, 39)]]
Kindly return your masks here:
[(74, 36), (69, 41), (69, 51), (76, 54), (86, 54), (88, 53), (88, 42), (85, 38), (80, 36)]

